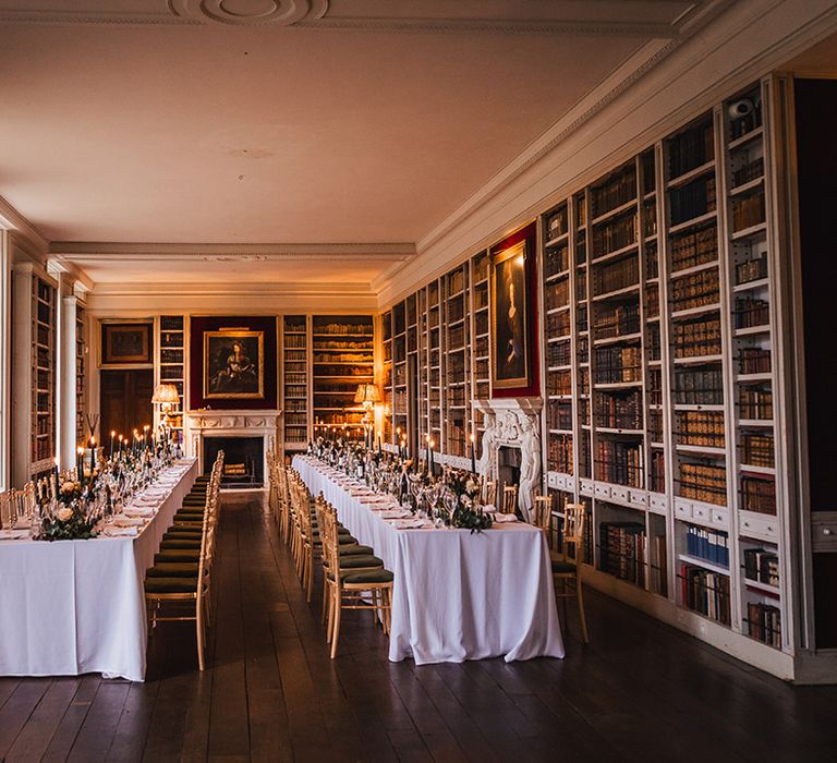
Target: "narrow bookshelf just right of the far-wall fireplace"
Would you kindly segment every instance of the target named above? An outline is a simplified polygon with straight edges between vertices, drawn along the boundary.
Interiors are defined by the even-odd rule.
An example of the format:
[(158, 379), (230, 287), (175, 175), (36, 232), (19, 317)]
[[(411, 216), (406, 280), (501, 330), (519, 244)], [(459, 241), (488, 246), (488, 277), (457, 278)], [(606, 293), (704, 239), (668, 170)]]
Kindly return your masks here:
[(308, 443), (307, 317), (282, 318), (282, 421), (284, 449), (300, 450)]

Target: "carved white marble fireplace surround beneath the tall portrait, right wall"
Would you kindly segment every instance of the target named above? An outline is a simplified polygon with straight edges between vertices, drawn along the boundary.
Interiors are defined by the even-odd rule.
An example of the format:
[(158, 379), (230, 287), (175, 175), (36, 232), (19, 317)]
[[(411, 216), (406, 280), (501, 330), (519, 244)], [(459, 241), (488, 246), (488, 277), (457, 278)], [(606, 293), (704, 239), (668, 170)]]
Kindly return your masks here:
[(518, 506), (526, 521), (532, 520), (532, 492), (541, 485), (541, 409), (543, 398), (492, 398), (474, 400), (484, 414), (483, 455), (477, 471), (496, 481), (500, 448), (520, 449)]

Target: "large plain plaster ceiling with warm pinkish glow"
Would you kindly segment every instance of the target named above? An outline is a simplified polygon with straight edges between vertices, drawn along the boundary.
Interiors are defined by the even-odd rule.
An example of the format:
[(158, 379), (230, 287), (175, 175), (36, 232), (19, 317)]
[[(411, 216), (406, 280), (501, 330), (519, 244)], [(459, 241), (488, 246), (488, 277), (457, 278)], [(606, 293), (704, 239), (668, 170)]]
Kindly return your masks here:
[[(700, 4), (0, 0), (0, 195), (97, 282), (368, 283)], [(179, 257), (306, 243), (384, 246)]]

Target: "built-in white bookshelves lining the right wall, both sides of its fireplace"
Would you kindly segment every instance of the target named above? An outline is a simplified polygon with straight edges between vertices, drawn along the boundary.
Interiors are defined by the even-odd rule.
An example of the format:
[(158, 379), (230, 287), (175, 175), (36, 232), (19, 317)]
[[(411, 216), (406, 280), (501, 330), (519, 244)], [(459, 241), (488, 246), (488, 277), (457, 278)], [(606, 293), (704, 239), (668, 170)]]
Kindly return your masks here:
[[(587, 506), (587, 582), (789, 675), (771, 85), (693, 116), (539, 216), (542, 440), (554, 518)], [(459, 465), (469, 426), (480, 443), (459, 390), (490, 396), (489, 262), (471, 253), (415, 293), (418, 436), (441, 463)], [(393, 342), (400, 331), (393, 319)]]

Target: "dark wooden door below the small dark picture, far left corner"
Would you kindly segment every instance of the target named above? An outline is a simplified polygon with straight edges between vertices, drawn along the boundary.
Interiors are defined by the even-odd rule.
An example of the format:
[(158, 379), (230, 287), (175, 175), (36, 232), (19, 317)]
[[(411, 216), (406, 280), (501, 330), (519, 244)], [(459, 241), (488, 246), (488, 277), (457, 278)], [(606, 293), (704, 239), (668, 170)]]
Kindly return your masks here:
[(154, 371), (102, 371), (100, 377), (101, 441), (110, 432), (130, 434), (142, 431), (144, 424), (154, 424)]

